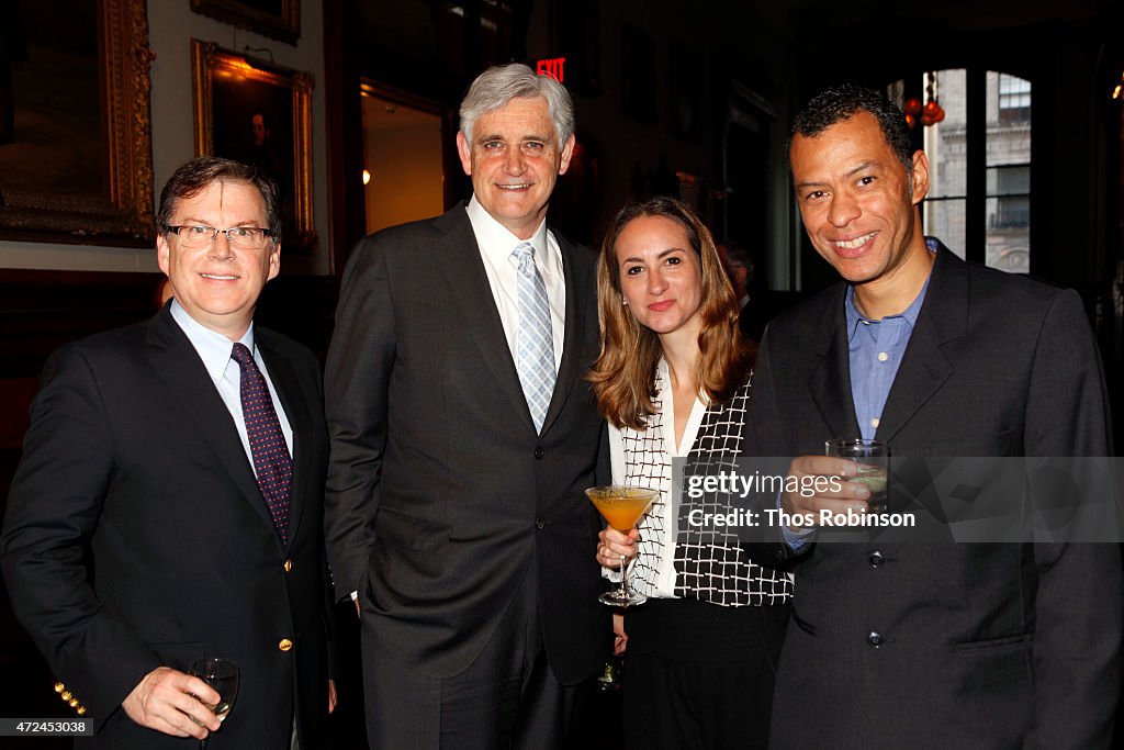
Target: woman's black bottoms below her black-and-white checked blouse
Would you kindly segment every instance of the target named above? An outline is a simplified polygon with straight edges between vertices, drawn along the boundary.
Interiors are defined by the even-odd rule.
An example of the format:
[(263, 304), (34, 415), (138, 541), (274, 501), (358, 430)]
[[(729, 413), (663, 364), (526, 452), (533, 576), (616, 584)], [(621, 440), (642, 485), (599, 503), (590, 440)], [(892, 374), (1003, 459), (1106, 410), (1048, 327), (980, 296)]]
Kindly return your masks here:
[(625, 614), (625, 747), (767, 748), (790, 607), (649, 599)]

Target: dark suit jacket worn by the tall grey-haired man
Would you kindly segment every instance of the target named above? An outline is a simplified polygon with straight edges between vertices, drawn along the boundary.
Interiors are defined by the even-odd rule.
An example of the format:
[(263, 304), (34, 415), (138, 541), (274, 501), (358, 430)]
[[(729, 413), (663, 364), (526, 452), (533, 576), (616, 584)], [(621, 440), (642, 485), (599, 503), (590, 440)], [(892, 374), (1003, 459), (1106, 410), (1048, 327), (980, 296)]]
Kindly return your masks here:
[(357, 590), (368, 634), (430, 677), (473, 662), (526, 575), (555, 676), (599, 667), (596, 259), (558, 241), (565, 334), (541, 435), (463, 205), (366, 237), (344, 274), (325, 379), (336, 594)]

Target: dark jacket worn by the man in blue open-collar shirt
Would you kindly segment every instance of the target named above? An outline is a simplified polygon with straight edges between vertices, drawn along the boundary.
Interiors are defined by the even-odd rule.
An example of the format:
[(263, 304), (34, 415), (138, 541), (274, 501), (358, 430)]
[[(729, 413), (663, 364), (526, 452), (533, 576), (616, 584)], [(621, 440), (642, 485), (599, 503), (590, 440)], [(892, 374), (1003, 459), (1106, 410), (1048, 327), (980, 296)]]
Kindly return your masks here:
[[(763, 455), (859, 435), (840, 283), (770, 325)], [(1111, 455), (1080, 300), (937, 253), (877, 437), (895, 457)], [(1113, 544), (813, 544), (773, 710), (778, 748), (1107, 747)]]

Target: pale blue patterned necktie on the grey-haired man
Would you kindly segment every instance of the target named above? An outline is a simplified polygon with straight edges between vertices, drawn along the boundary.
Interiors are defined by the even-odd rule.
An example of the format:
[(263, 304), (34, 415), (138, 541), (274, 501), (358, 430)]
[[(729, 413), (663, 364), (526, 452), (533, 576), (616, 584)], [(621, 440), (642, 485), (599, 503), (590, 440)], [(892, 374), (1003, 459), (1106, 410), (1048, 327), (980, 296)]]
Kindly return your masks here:
[(546, 409), (554, 392), (554, 338), (551, 335), (551, 308), (546, 301), (546, 286), (535, 268), (535, 249), (520, 242), (511, 252), (519, 268), (519, 338), (515, 365), (519, 383), (527, 398), (535, 431), (542, 432)]

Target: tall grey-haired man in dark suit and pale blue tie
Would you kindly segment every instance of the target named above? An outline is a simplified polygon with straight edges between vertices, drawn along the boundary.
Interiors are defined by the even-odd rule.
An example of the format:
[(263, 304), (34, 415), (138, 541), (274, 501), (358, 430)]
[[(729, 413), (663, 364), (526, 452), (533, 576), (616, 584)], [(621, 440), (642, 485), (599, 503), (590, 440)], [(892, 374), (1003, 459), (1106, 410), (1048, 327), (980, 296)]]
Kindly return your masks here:
[(582, 494), (602, 434), (582, 380), (595, 257), (546, 222), (570, 97), (492, 67), (456, 143), (472, 200), (366, 237), (344, 274), (328, 554), (357, 597), (372, 747), (549, 749), (609, 632)]

